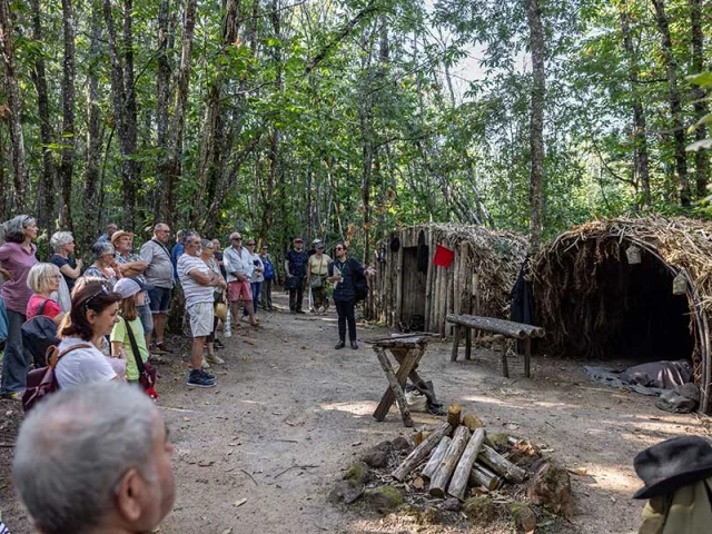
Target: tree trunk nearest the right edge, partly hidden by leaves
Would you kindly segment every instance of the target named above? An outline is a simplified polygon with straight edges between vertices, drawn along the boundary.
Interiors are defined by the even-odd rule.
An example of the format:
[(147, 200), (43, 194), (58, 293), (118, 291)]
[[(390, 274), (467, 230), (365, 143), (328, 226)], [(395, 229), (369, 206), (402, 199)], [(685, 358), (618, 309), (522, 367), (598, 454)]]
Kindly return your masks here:
[[(690, 0), (690, 26), (692, 28), (692, 70), (700, 73), (704, 70), (704, 36), (702, 33), (702, 0)], [(708, 91), (702, 87), (694, 89), (694, 117), (700, 120), (709, 113), (709, 106), (704, 98)], [(705, 125), (698, 127), (694, 132), (695, 141), (708, 137)], [(706, 150), (694, 152), (694, 181), (698, 198), (708, 195), (708, 181), (710, 178), (710, 157)]]

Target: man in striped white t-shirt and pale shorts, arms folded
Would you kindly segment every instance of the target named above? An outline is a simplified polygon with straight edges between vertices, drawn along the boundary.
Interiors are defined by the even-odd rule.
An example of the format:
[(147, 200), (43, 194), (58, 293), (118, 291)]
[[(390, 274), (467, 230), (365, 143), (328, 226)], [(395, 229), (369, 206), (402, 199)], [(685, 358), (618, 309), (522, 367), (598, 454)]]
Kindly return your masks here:
[(190, 317), (192, 335), (187, 384), (190, 387), (215, 387), (215, 376), (202, 370), (202, 349), (206, 337), (212, 333), (212, 294), (220, 285), (220, 276), (200, 259), (200, 236), (197, 231), (184, 235), (184, 254), (178, 258), (178, 276), (186, 296), (186, 310)]

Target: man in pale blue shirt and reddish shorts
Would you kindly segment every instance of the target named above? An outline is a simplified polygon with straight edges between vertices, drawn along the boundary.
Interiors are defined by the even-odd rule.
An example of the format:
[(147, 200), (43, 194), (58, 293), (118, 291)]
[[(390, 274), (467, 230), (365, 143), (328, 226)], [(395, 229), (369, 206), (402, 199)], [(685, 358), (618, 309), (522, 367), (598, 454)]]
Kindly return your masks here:
[(222, 253), (222, 264), (227, 270), (227, 299), (230, 303), (233, 320), (237, 325), (240, 320), (240, 301), (249, 315), (249, 324), (257, 326), (255, 308), (253, 307), (253, 290), (250, 279), (255, 266), (250, 253), (243, 248), (243, 236), (239, 231), (230, 234), (230, 246)]

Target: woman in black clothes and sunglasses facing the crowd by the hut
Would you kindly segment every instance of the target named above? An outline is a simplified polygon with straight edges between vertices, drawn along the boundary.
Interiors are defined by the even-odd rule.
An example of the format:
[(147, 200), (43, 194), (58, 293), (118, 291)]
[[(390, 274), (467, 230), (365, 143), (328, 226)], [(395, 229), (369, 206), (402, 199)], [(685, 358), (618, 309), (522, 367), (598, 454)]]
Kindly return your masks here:
[(346, 245), (336, 245), (336, 259), (329, 264), (329, 281), (334, 284), (334, 304), (338, 314), (338, 343), (336, 349), (346, 346), (346, 323), (352, 348), (358, 348), (356, 342), (356, 290), (354, 276), (365, 276), (364, 266), (356, 258), (346, 257)]

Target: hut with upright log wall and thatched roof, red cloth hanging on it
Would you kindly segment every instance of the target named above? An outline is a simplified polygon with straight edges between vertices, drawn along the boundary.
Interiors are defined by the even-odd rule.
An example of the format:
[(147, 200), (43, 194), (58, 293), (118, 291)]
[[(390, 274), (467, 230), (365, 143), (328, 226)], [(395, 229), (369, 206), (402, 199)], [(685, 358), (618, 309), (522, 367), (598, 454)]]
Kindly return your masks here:
[[(455, 253), (436, 267), (436, 246)], [(527, 241), (481, 226), (428, 224), (392, 231), (378, 241), (366, 315), (403, 330), (445, 334), (447, 314), (506, 318), (510, 291)]]

